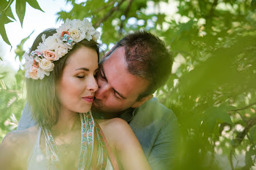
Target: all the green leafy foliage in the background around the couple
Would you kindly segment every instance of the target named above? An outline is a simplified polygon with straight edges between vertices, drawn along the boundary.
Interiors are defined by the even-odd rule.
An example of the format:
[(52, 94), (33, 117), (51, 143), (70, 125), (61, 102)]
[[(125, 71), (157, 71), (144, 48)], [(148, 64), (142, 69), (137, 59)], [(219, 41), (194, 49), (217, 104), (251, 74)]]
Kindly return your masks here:
[[(144, 29), (163, 39), (172, 51), (172, 76), (155, 93), (180, 123), (180, 161), (172, 168), (256, 169), (255, 0), (66, 2), (72, 9), (59, 11), (58, 20), (92, 18), (107, 47), (131, 31)], [(16, 3), (21, 25), (26, 4), (43, 10), (36, 0), (0, 2), (0, 34), (9, 45), (4, 25), (18, 22), (11, 3)], [(171, 14), (168, 7), (174, 4), (177, 11)], [(28, 38), (15, 49), (20, 61)], [(23, 73), (22, 66), (18, 72), (0, 66), (0, 141), (21, 116)]]

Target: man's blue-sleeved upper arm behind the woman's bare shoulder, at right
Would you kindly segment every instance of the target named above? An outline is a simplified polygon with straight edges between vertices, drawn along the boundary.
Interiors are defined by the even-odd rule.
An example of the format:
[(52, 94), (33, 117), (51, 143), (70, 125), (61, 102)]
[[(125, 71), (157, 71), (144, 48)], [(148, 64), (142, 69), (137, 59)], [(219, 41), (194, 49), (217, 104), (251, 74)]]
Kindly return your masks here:
[(179, 124), (177, 118), (170, 115), (165, 118), (164, 124), (158, 132), (156, 141), (148, 161), (153, 170), (169, 170), (179, 161), (177, 150), (179, 148)]

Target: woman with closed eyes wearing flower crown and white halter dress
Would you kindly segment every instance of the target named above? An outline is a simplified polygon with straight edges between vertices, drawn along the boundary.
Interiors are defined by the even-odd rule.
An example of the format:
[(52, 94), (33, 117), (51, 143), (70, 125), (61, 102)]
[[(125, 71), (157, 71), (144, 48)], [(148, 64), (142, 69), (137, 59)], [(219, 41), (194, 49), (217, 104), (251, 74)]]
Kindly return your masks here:
[(150, 169), (125, 121), (91, 115), (98, 37), (87, 19), (67, 19), (38, 35), (25, 54), (28, 103), (38, 125), (6, 135), (1, 169), (118, 169), (116, 159), (124, 169)]

